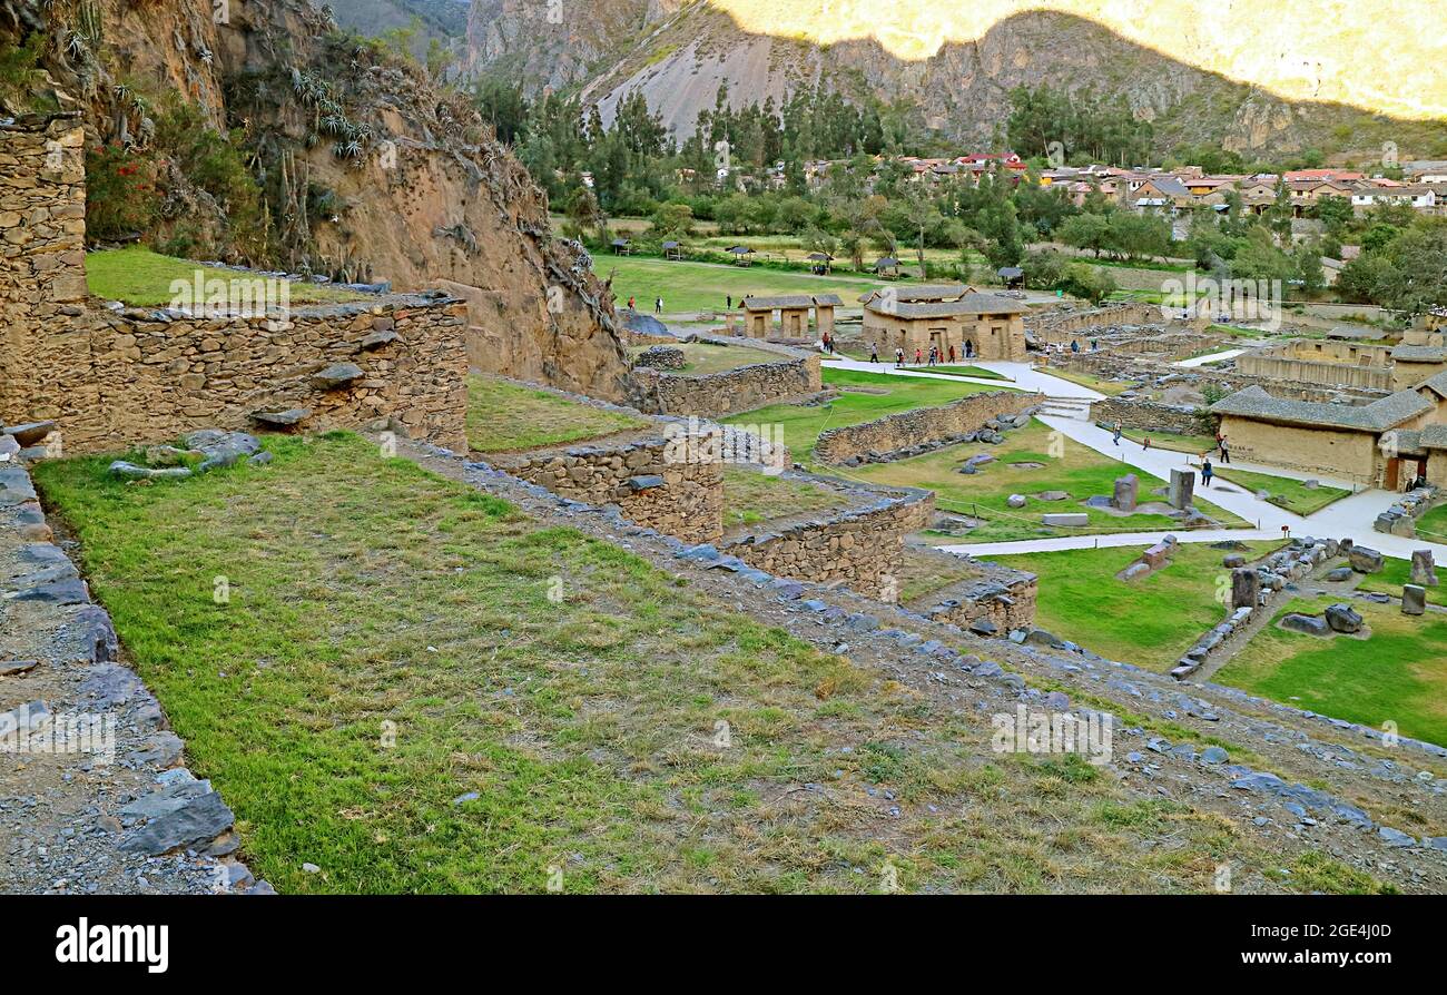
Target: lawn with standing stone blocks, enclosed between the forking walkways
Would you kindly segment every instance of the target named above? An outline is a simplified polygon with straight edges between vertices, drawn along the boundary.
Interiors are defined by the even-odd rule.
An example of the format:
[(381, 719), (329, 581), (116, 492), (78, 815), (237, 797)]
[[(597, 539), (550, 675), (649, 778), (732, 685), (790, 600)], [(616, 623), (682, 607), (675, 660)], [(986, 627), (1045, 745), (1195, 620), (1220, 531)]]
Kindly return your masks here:
[[(1153, 529), (1181, 529), (1179, 522), (1166, 515), (1136, 513), (1116, 516), (1100, 508), (1081, 505), (1087, 498), (1114, 493), (1117, 477), (1134, 473), (1140, 479), (1140, 502), (1165, 500), (1149, 492), (1163, 486), (1139, 470), (1132, 470), (1095, 450), (1058, 435), (1040, 421), (1007, 432), (1001, 445), (967, 444), (951, 445), (923, 456), (894, 463), (871, 463), (851, 470), (868, 483), (926, 487), (935, 492), (935, 503), (942, 511), (972, 515), (983, 519), (980, 528), (969, 532), (969, 542), (1007, 542), (1033, 539), (1045, 535), (1081, 535), (1091, 532), (1139, 532)], [(1051, 456), (1055, 451), (1056, 456)], [(959, 467), (977, 453), (988, 453), (994, 463), (980, 467), (980, 473), (967, 476)], [(1040, 466), (1020, 466), (1040, 464)], [(1035, 495), (1048, 490), (1064, 490), (1065, 500), (1039, 500)], [(1010, 508), (1010, 495), (1023, 495), (1024, 508)], [(1246, 526), (1240, 518), (1197, 499), (1195, 506), (1226, 528)], [(1040, 516), (1048, 513), (1085, 513), (1090, 525), (1085, 528), (1046, 526)]]

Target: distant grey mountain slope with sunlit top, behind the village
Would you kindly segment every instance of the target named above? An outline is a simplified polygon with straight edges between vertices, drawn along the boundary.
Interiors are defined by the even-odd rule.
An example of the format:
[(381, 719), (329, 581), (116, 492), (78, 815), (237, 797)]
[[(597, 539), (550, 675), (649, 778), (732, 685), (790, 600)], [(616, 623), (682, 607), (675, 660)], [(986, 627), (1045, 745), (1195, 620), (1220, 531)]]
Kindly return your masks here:
[(991, 139), (1014, 87), (1040, 82), (1123, 94), (1166, 148), (1289, 152), (1350, 136), (1408, 149), (1427, 142), (1421, 127), (1389, 116), (1447, 117), (1443, 65), (1414, 42), (1412, 25), (1431, 22), (1428, 0), (1370, 17), (1340, 0), (1310, 19), (1285, 0), (1249, 6), (603, 0), (551, 25), (541, 3), (473, 0), (466, 58), (470, 71), (505, 69), (532, 90), (583, 85), (605, 120), (638, 88), (680, 136), (724, 80), (735, 106), (813, 80), (907, 100), (929, 126), (974, 143)]

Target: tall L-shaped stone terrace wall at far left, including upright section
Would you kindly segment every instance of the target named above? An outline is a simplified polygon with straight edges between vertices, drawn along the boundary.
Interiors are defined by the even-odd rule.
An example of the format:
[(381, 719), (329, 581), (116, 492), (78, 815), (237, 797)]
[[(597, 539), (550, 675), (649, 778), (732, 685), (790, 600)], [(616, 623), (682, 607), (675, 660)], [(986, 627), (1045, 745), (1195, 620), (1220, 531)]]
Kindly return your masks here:
[(0, 419), (54, 421), (72, 453), (255, 428), (258, 412), (282, 411), (307, 430), (389, 419), (464, 445), (462, 302), (392, 296), (218, 318), (113, 311), (85, 296), (84, 243), (74, 119), (0, 127)]

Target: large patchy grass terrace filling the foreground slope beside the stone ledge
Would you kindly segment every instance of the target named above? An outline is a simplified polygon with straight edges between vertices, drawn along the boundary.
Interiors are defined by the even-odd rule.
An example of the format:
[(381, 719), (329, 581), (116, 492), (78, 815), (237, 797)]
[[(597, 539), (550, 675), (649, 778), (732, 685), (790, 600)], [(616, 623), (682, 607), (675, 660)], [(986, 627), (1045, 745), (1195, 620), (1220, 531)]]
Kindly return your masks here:
[(282, 892), (541, 892), (551, 866), (569, 892), (868, 892), (887, 863), (906, 891), (1205, 891), (1226, 858), (1321, 887), (360, 438), (268, 447), (149, 486), (106, 457), (36, 476)]

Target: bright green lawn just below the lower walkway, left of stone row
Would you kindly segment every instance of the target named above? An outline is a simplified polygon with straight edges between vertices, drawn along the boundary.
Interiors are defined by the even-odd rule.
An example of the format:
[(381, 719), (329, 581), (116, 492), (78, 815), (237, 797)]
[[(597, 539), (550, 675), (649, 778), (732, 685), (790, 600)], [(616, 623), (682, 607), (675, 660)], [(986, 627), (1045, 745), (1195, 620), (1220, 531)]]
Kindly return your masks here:
[[(1282, 544), (1246, 545), (1247, 560), (1257, 560)], [(1169, 567), (1142, 580), (1117, 580), (1139, 555), (1140, 550), (1127, 547), (990, 558), (1039, 576), (1035, 620), (1042, 629), (1111, 659), (1165, 672), (1226, 618), (1217, 590), (1230, 571), (1221, 565), (1221, 550), (1185, 542)]]

